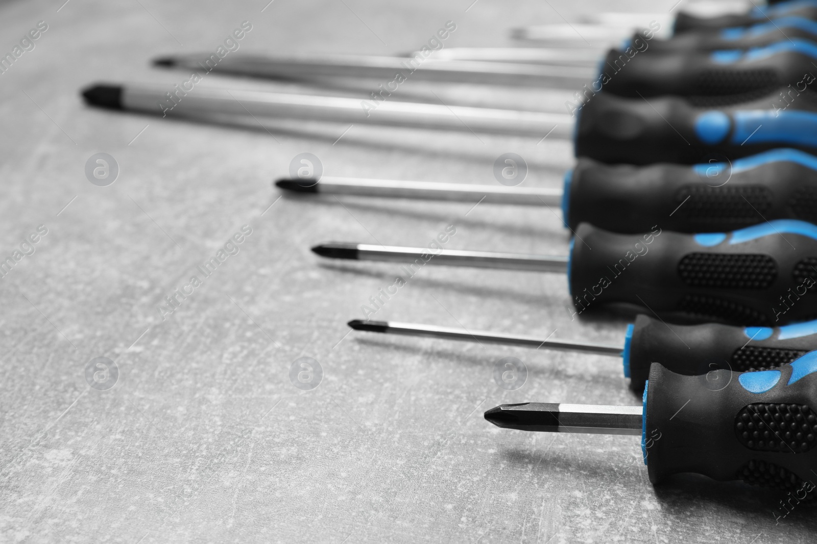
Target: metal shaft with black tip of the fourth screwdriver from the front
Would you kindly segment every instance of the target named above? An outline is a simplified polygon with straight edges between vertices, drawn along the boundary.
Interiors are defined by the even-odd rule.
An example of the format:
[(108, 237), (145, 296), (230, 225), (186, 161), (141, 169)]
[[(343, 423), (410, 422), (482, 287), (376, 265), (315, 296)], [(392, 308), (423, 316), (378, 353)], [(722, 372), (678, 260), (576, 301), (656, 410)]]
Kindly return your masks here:
[(282, 179), (280, 188), (300, 192), (320, 192), (365, 197), (414, 198), (418, 200), (483, 202), (524, 206), (560, 206), (562, 192), (551, 188), (506, 187), (504, 185), (440, 184), (395, 179), (331, 178), (324, 176), (309, 184), (304, 180)]

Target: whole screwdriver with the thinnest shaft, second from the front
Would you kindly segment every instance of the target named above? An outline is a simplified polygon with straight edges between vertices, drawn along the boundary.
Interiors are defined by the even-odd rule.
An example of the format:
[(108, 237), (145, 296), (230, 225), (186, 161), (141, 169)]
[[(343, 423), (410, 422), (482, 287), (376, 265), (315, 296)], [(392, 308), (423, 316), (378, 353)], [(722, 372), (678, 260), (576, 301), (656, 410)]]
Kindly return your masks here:
[(655, 362), (685, 376), (708, 374), (716, 369), (747, 372), (787, 365), (817, 348), (817, 320), (774, 329), (720, 323), (670, 327), (663, 321), (640, 314), (632, 324), (627, 325), (623, 345), (551, 337), (533, 338), (398, 321), (355, 319), (349, 321), (348, 325), (352, 329), (372, 333), (621, 357), (624, 377), (630, 378), (630, 388), (636, 393), (644, 391), (644, 384), (650, 375), (650, 365)]

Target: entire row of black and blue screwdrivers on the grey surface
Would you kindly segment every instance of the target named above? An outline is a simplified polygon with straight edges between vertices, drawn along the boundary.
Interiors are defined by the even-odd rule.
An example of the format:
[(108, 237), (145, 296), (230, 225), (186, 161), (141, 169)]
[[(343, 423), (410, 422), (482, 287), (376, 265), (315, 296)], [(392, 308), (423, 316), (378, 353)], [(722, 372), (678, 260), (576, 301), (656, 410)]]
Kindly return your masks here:
[[(570, 318), (633, 317), (620, 345), (395, 321), (349, 325), (619, 357), (640, 404), (528, 402), (499, 405), (484, 418), (520, 431), (641, 436), (655, 484), (692, 472), (800, 490), (817, 477), (817, 0), (710, 17), (681, 11), (670, 38), (653, 30), (598, 55), (595, 70), (586, 51), (453, 48), (410, 72), (424, 82), (580, 89), (567, 113), (385, 100), (382, 93), (378, 100), (374, 92), (376, 108), (368, 110), (346, 96), (201, 89), (173, 98), (157, 86), (116, 84), (89, 87), (83, 97), (100, 108), (171, 117), (246, 113), (256, 121), (569, 139), (576, 161), (561, 190), (319, 175), (278, 179), (275, 186), (304, 198), (559, 209), (569, 232), (563, 254), (343, 241), (312, 250), (325, 259), (564, 274)], [(212, 71), (288, 82), (388, 81), (419, 55), (235, 54)], [(195, 70), (201, 59), (155, 63)], [(157, 108), (161, 100), (172, 100), (172, 111)]]

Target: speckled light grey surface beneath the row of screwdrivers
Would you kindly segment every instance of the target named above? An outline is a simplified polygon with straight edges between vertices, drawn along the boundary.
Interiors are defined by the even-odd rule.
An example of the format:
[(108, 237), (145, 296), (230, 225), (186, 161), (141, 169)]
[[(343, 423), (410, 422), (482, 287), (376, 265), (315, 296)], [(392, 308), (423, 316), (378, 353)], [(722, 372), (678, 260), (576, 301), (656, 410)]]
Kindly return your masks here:
[[(276, 201), (270, 187), (303, 152), (327, 175), (485, 184), (496, 183), (493, 160), (514, 152), (531, 167), (526, 184), (556, 187), (567, 142), (354, 126), (333, 144), (346, 125), (281, 123), (270, 135), (78, 100), (100, 79), (179, 82), (147, 60), (212, 50), (243, 20), (253, 25), (246, 51), (386, 54), (416, 48), (446, 20), (458, 24), (449, 45), (507, 45), (511, 26), (605, 2), (60, 4), (0, 4), (0, 51), (48, 24), (0, 74), (0, 255), (47, 228), (0, 279), (0, 541), (814, 542), (809, 507), (775, 524), (775, 498), (757, 489), (697, 477), (654, 488), (635, 437), (489, 425), (484, 409), (505, 402), (639, 400), (602, 357), (347, 334), (399, 272), (309, 250), (332, 239), (426, 245), (453, 223), (450, 248), (562, 254), (555, 214)], [(437, 91), (456, 100), (463, 90)], [(565, 97), (470, 100), (559, 111)], [(108, 187), (84, 175), (98, 152), (121, 169)], [(243, 225), (252, 234), (239, 252), (163, 320), (158, 305)], [(560, 276), (429, 267), (377, 318), (621, 341), (626, 320), (571, 321), (568, 308)], [(85, 379), (98, 356), (119, 369), (108, 391)], [(289, 381), (301, 356), (324, 370), (311, 391)], [(493, 383), (505, 356), (528, 365), (517, 391)]]

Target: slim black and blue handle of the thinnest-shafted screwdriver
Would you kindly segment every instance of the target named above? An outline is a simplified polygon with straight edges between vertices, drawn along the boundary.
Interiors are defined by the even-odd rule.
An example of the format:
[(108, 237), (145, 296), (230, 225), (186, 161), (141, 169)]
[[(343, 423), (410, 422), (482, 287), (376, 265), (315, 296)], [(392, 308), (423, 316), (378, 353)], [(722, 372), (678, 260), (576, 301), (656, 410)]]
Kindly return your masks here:
[(650, 365), (660, 363), (676, 374), (698, 376), (717, 369), (734, 372), (788, 365), (817, 350), (817, 321), (782, 327), (739, 327), (706, 323), (667, 325), (649, 316), (636, 317), (624, 340), (624, 375), (641, 393)]

